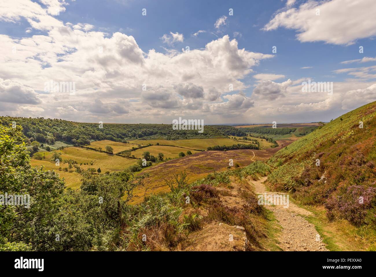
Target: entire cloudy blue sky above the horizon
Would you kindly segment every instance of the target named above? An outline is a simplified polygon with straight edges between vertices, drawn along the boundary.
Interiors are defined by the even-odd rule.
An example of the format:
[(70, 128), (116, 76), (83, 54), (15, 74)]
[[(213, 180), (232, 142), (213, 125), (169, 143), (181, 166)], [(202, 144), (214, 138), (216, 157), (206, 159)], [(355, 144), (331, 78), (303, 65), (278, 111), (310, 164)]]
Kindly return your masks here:
[[(376, 100), (374, 1), (2, 5), (2, 43), (18, 50), (0, 56), (6, 65), (0, 70), (2, 115), (130, 123), (170, 123), (179, 116), (207, 123), (313, 122)], [(223, 24), (215, 26), (220, 18)], [(182, 51), (186, 46), (190, 53)], [(334, 82), (334, 94), (305, 95), (301, 87), (308, 78)], [(52, 79), (74, 82), (77, 93), (43, 91)]]

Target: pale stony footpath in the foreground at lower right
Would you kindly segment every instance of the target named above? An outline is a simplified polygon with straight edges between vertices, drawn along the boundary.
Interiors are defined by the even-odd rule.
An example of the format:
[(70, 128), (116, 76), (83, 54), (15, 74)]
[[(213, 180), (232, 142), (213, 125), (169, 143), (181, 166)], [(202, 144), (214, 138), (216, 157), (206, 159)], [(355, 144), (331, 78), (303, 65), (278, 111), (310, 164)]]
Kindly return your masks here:
[[(260, 195), (265, 192), (267, 195), (283, 195), (280, 192), (267, 192), (263, 182), (267, 177), (259, 181), (250, 181), (253, 184), (255, 193)], [(287, 206), (287, 205), (285, 205)], [(325, 244), (313, 224), (302, 217), (312, 215), (311, 212), (302, 209), (288, 201), (288, 207), (283, 205), (265, 205), (265, 207), (274, 213), (277, 221), (282, 227), (282, 231), (277, 237), (279, 247), (284, 251), (328, 251)]]

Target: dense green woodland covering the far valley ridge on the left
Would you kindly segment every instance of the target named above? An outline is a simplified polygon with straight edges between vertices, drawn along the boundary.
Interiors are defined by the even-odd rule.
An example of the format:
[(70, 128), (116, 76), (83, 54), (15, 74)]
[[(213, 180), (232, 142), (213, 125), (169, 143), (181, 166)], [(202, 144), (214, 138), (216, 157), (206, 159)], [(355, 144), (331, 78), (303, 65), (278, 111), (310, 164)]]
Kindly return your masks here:
[(71, 122), (62, 119), (44, 119), (27, 117), (0, 117), (2, 125), (15, 122), (21, 125), (27, 144), (33, 141), (53, 145), (56, 141), (74, 145), (90, 145), (92, 140), (111, 140), (124, 142), (127, 140), (147, 139), (208, 139), (218, 136), (243, 136), (245, 132), (227, 125), (206, 125), (203, 132), (197, 130), (173, 130), (170, 124), (118, 124)]

